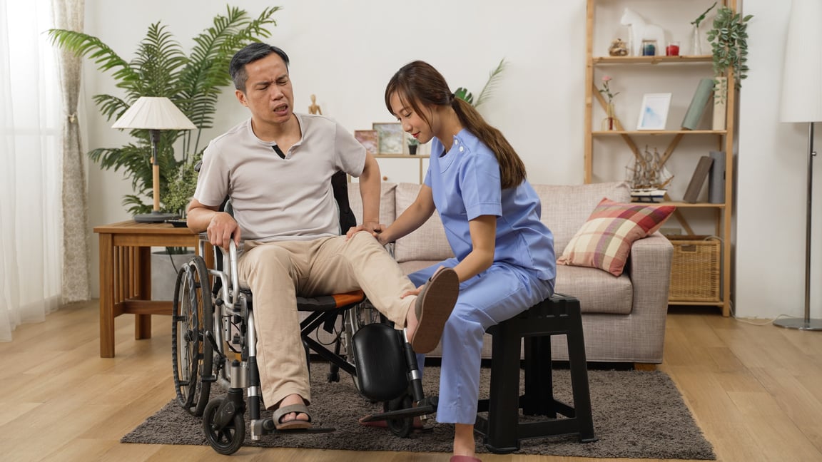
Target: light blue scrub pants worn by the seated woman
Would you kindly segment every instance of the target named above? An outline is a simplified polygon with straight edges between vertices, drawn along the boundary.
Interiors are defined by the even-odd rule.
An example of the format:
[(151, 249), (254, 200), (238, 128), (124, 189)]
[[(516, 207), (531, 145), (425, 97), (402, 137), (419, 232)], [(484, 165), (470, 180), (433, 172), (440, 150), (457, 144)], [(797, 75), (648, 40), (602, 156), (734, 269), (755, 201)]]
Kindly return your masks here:
[[(440, 266), (453, 268), (456, 264), (451, 258), (412, 273), (409, 279), (420, 286)], [(442, 333), (437, 422), (473, 425), (485, 331), (549, 298), (553, 287), (554, 280), (539, 280), (521, 268), (501, 263), (459, 284), (459, 298)], [(423, 359), (418, 355), (421, 368)]]

